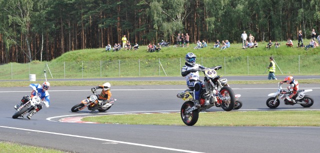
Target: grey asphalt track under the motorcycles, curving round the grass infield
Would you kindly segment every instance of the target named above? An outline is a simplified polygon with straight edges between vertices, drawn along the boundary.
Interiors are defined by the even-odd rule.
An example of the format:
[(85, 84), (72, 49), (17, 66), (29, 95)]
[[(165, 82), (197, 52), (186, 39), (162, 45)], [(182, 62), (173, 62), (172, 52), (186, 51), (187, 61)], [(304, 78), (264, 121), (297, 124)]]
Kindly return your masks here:
[[(286, 85), (286, 84), (283, 84)], [(267, 94), (276, 92), (276, 84), (231, 85), (241, 94), (239, 111), (270, 111)], [(284, 86), (283, 86), (284, 87)], [(12, 119), (13, 106), (29, 87), (0, 88), (0, 141), (54, 148), (78, 153), (318, 153), (318, 127), (200, 127), (63, 123), (62, 118), (114, 113), (178, 112), (182, 100), (176, 94), (185, 86), (112, 86), (117, 101), (106, 113), (78, 113), (70, 108), (90, 95), (89, 86), (54, 87), (49, 90), (51, 104), (31, 120)], [(275, 110), (320, 110), (318, 84), (300, 84), (313, 89), (307, 95), (315, 103), (310, 108), (283, 103)], [(208, 111), (221, 111), (212, 107)], [(271, 110), (274, 111), (274, 110)], [(199, 115), (201, 120), (201, 114)], [(182, 121), (181, 121), (182, 122)]]

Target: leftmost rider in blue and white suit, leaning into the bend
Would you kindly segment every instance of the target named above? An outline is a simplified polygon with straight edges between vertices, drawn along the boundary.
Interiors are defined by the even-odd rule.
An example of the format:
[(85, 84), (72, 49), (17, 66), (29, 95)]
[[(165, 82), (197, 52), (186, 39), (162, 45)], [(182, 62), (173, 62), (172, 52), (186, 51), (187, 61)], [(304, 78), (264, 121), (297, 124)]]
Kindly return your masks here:
[[(42, 83), (42, 85), (40, 85), (40, 84), (30, 84), (29, 87), (32, 89), (31, 97), (23, 96), (21, 101), (19, 102), (19, 104), (14, 106), (14, 109), (18, 109), (21, 105), (23, 105), (26, 102), (28, 102), (35, 95), (38, 95), (41, 98), (41, 101), (44, 103), (45, 107), (48, 108), (49, 105), (50, 105), (50, 95), (47, 92), (47, 90), (50, 88), (50, 83), (45, 81), (45, 82)], [(31, 116), (34, 115), (35, 113), (37, 113), (41, 109), (42, 109), (42, 105), (41, 104), (36, 105), (35, 106), (35, 110), (30, 112), (30, 114), (28, 116), (26, 116), (26, 118), (28, 118), (30, 120)]]

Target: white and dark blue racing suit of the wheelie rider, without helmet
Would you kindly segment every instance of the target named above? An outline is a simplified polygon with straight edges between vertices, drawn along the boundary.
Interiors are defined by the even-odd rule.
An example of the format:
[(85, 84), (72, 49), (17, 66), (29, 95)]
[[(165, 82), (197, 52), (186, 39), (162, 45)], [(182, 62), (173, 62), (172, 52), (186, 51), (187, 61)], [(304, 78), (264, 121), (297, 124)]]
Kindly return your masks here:
[(200, 64), (194, 64), (194, 66), (185, 63), (181, 69), (181, 75), (185, 77), (186, 85), (189, 89), (193, 90), (193, 97), (195, 104), (199, 102), (201, 94), (201, 81), (199, 80), (198, 69), (204, 69), (205, 67)]

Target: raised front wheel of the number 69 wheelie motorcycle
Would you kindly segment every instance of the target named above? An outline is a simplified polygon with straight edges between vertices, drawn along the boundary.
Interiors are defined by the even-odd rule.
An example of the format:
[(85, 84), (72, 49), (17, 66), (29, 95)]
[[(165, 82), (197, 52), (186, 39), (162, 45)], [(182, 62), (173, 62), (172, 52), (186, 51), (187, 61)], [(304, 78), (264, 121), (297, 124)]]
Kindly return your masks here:
[(224, 86), (220, 89), (220, 94), (225, 99), (225, 100), (222, 100), (221, 108), (224, 111), (231, 111), (234, 108), (234, 102), (235, 102), (233, 90), (228, 86)]

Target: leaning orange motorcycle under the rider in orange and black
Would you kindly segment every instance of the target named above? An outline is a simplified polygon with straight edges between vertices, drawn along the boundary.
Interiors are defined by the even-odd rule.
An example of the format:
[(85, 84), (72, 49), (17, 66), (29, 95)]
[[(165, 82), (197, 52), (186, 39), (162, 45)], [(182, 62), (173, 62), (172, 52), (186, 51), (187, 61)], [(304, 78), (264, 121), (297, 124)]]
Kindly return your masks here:
[(87, 96), (86, 99), (82, 100), (80, 104), (76, 104), (71, 108), (71, 112), (77, 112), (80, 110), (83, 110), (84, 108), (88, 108), (90, 110), (90, 113), (94, 113), (95, 110), (98, 110), (99, 112), (105, 112), (108, 109), (111, 108), (113, 103), (116, 101), (116, 99), (110, 98), (109, 101), (105, 101), (102, 103), (102, 105), (98, 105), (98, 95), (96, 94), (95, 89), (91, 89), (93, 95)]

